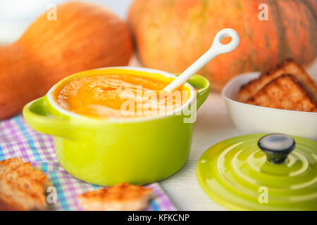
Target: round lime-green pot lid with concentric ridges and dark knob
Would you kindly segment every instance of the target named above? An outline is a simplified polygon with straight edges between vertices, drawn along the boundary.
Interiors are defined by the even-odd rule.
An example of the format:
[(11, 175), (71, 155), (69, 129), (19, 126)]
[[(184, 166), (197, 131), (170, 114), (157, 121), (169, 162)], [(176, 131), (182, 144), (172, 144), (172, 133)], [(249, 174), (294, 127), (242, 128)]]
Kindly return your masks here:
[(197, 164), (201, 188), (230, 210), (317, 210), (317, 142), (276, 134), (259, 141), (264, 135), (206, 150)]

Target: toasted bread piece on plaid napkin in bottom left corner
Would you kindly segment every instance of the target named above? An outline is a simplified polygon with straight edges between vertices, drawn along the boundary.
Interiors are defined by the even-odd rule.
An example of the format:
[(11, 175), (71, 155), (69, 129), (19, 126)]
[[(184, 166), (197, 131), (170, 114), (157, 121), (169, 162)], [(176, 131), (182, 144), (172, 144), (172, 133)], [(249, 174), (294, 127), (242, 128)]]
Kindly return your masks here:
[(0, 209), (44, 210), (47, 178), (30, 162), (11, 158), (0, 162)]

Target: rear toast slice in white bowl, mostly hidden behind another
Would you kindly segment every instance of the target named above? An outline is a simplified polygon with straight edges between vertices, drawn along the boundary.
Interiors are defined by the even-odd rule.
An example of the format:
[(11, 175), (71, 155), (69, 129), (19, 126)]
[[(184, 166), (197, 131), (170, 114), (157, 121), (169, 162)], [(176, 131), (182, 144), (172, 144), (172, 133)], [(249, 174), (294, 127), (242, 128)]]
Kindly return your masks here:
[(313, 101), (317, 101), (317, 85), (302, 68), (301, 65), (296, 63), (292, 59), (282, 61), (275, 69), (263, 73), (258, 79), (254, 79), (248, 84), (241, 87), (239, 94), (237, 95), (237, 101), (246, 102), (251, 96), (254, 96), (260, 91), (263, 86), (266, 86), (273, 79), (280, 77), (282, 74), (291, 74), (303, 88), (309, 93)]

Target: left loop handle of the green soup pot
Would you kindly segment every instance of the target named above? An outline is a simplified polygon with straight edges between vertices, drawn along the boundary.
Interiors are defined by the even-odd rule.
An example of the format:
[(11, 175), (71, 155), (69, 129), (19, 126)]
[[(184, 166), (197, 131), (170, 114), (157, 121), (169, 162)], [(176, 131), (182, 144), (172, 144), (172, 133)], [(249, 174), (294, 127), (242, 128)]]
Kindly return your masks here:
[(75, 139), (75, 128), (70, 126), (70, 118), (51, 115), (49, 107), (46, 96), (27, 103), (23, 108), (25, 122), (41, 133)]

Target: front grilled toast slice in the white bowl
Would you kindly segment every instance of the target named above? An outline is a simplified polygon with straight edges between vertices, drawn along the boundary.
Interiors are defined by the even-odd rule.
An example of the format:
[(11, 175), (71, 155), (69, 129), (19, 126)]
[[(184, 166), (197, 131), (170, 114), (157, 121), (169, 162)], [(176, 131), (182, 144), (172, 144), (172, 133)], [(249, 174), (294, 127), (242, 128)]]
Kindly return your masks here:
[(292, 75), (281, 75), (273, 79), (246, 103), (283, 110), (317, 112), (317, 103)]

